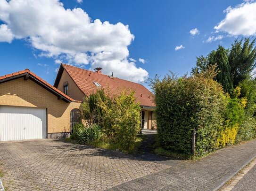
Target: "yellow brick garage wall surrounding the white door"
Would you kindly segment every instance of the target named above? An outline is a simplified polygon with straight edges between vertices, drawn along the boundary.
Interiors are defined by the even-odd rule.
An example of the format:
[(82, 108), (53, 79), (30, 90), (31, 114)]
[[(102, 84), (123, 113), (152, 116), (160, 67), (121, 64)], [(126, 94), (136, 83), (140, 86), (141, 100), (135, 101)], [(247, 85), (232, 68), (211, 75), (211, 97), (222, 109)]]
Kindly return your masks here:
[(18, 78), (0, 84), (0, 105), (47, 108), (48, 133), (70, 131), (70, 112), (81, 102), (66, 103), (32, 80)]

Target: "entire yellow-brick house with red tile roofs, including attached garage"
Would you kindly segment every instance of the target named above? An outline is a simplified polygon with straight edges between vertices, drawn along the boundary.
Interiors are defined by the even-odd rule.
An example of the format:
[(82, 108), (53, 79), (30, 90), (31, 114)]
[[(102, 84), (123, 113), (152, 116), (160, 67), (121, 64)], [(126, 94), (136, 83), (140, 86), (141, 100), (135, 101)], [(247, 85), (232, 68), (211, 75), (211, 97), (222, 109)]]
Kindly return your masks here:
[(135, 91), (142, 129), (155, 129), (153, 94), (141, 84), (61, 64), (54, 86), (29, 69), (0, 76), (0, 141), (65, 138), (76, 123), (84, 96), (98, 88), (113, 95)]

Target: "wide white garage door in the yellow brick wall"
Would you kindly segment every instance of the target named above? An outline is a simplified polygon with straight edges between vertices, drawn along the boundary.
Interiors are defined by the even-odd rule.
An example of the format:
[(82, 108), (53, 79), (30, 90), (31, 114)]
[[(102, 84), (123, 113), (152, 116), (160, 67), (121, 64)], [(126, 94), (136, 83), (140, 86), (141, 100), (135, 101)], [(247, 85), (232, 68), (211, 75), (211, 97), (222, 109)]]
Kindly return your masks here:
[(0, 141), (46, 138), (46, 109), (0, 106)]

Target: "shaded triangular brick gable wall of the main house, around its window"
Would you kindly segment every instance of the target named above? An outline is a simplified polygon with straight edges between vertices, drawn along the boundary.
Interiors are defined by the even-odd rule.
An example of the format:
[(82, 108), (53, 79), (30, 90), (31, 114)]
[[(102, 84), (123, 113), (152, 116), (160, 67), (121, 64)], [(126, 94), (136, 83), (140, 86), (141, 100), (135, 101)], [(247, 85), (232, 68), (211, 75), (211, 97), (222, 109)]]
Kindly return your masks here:
[(67, 71), (64, 69), (57, 87), (61, 92), (64, 92), (63, 84), (65, 82), (68, 83), (67, 95), (70, 98), (73, 98), (74, 100), (83, 101), (83, 97), (84, 97), (83, 92), (77, 87), (73, 79), (69, 76)]

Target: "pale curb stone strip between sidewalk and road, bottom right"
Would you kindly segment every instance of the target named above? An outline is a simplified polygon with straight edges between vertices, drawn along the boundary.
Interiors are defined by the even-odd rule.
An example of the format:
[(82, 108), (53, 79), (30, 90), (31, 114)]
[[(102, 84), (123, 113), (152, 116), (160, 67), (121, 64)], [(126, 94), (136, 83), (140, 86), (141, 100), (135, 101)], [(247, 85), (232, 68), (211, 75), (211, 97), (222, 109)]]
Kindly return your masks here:
[(248, 160), (241, 163), (238, 168), (234, 169), (232, 172), (223, 176), (219, 181), (217, 181), (213, 186), (211, 186), (207, 191), (218, 191), (221, 189), (232, 177), (234, 177), (241, 169), (243, 169), (247, 164), (256, 158), (256, 154), (252, 155)]

